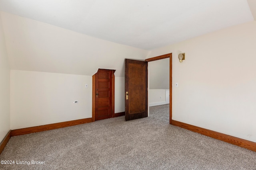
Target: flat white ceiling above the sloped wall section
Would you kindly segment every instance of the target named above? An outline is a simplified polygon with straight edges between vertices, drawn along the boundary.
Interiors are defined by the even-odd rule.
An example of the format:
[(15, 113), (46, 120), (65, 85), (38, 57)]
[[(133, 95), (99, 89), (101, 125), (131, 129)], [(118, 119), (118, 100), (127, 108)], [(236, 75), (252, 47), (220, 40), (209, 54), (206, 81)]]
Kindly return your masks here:
[[(256, 4), (256, 0), (249, 1), (249, 4)], [(252, 21), (254, 18), (248, 2), (0, 0), (0, 10), (92, 37), (150, 50)]]

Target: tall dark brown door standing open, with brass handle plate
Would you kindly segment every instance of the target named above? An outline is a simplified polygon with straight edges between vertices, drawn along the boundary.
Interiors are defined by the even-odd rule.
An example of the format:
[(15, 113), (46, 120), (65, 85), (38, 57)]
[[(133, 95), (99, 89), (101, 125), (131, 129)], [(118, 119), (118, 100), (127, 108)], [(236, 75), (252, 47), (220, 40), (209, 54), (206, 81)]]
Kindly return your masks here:
[(148, 117), (148, 63), (125, 59), (125, 120)]

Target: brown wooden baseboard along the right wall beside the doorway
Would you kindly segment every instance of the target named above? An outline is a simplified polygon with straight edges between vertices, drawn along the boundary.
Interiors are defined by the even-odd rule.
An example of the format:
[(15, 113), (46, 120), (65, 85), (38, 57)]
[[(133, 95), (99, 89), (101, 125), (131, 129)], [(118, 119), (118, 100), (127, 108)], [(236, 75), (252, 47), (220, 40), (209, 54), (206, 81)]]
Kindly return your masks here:
[(182, 127), (184, 129), (188, 129), (190, 131), (197, 132), (197, 133), (200, 133), (202, 135), (206, 135), (208, 137), (212, 137), (214, 139), (218, 139), (220, 141), (231, 143), (233, 145), (237, 145), (239, 147), (243, 147), (243, 148), (253, 150), (253, 151), (256, 152), (256, 143), (252, 142), (252, 141), (247, 141), (245, 139), (240, 139), (238, 137), (233, 137), (233, 136), (230, 136), (230, 135), (226, 135), (226, 134), (219, 133), (219, 132), (216, 132), (216, 131), (211, 131), (211, 130), (208, 130), (208, 129), (204, 129), (202, 127), (189, 125), (189, 124), (182, 123), (182, 122), (175, 121), (175, 120), (172, 120), (172, 125)]

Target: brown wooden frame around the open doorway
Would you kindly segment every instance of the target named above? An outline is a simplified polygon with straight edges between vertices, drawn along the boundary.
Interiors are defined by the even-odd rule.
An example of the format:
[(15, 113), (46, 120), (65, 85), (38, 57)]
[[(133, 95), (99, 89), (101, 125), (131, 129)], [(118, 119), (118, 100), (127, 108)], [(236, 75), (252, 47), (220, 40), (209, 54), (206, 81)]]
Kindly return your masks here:
[(146, 62), (150, 62), (150, 61), (156, 61), (156, 60), (161, 60), (161, 59), (166, 59), (166, 58), (170, 58), (170, 110), (169, 110), (169, 114), (170, 114), (170, 124), (172, 125), (172, 53), (169, 54), (165, 54), (165, 55), (160, 55), (157, 57), (152, 57), (149, 59), (146, 59)]

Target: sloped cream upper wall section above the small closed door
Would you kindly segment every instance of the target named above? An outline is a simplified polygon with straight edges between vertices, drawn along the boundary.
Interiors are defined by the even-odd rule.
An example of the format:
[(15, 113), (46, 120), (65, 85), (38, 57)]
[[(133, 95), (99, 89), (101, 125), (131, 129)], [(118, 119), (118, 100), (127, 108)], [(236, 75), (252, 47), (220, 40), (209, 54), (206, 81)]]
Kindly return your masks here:
[(148, 51), (1, 12), (11, 70), (92, 76), (98, 68), (124, 77), (124, 59)]

